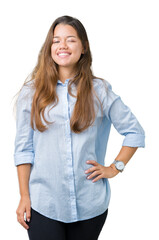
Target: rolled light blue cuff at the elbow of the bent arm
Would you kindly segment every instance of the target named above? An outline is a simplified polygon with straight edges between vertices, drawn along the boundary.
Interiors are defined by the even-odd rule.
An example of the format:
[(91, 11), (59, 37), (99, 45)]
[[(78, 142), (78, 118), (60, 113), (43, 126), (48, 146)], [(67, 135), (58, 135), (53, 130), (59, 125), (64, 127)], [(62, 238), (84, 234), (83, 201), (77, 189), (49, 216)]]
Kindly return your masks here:
[(145, 135), (129, 133), (125, 136), (122, 146), (145, 147)]

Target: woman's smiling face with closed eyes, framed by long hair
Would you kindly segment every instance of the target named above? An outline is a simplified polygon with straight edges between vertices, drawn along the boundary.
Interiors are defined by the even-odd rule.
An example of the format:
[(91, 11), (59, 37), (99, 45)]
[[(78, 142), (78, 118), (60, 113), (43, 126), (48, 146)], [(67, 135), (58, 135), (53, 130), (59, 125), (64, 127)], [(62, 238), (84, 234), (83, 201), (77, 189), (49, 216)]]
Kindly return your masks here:
[(58, 24), (54, 29), (51, 46), (53, 60), (59, 67), (72, 70), (80, 59), (81, 53), (84, 53), (83, 46), (76, 30), (70, 25)]

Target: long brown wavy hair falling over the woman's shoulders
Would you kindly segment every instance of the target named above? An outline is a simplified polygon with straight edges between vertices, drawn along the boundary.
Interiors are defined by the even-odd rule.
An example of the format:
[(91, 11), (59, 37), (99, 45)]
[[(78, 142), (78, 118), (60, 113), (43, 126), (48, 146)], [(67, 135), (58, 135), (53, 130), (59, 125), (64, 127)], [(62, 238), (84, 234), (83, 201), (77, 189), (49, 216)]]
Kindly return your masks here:
[[(33, 82), (35, 93), (32, 99), (31, 127), (33, 130), (35, 130), (33, 124), (35, 120), (36, 128), (39, 131), (43, 132), (47, 129), (47, 127), (42, 123), (41, 115), (47, 124), (52, 124), (53, 122), (46, 120), (44, 111), (47, 105), (54, 103), (53, 107), (55, 107), (59, 102), (59, 98), (56, 94), (56, 85), (59, 79), (58, 65), (51, 57), (51, 45), (54, 29), (60, 23), (68, 24), (76, 30), (77, 35), (80, 38), (82, 46), (84, 48), (84, 54), (81, 54), (81, 57), (77, 63), (76, 75), (68, 82), (69, 94), (72, 97), (77, 98), (70, 119), (70, 128), (73, 132), (80, 133), (91, 126), (95, 121), (96, 114), (94, 109), (93, 94), (96, 95), (101, 105), (101, 109), (102, 104), (93, 88), (93, 79), (97, 77), (93, 75), (91, 69), (92, 55), (87, 33), (84, 26), (78, 19), (65, 15), (57, 18), (52, 23), (46, 36), (45, 42), (39, 52), (37, 64), (30, 74), (31, 79), (29, 81), (26, 81), (26, 79), (23, 85), (30, 81)], [(103, 80), (102, 78), (98, 79), (99, 81)], [(76, 86), (77, 96), (74, 96), (71, 92), (72, 84), (75, 84)]]

